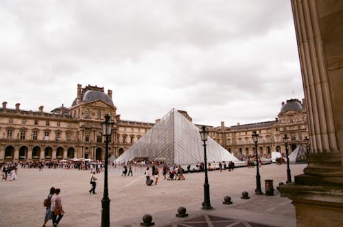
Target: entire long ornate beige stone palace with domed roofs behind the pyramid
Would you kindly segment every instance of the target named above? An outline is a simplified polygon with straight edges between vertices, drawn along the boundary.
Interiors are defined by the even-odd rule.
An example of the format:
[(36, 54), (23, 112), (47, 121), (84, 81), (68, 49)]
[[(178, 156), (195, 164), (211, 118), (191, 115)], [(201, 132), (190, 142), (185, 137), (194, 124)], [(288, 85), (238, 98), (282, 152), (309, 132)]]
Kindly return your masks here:
[[(185, 119), (192, 121), (184, 110), (171, 112), (180, 122)], [(88, 85), (82, 88), (81, 84), (77, 86), (71, 107), (62, 105), (51, 112), (45, 112), (43, 106), (29, 111), (21, 110), (20, 104), (10, 108), (3, 101), (0, 108), (0, 163), (68, 158), (103, 160), (105, 145), (102, 122), (108, 113), (110, 121), (113, 121), (108, 155), (114, 158), (125, 154), (134, 143), (171, 114), (166, 113), (165, 117), (161, 116), (154, 123), (122, 120), (113, 103), (111, 90), (106, 93), (102, 87)], [(276, 115), (273, 121), (244, 125), (237, 123), (236, 126), (225, 126), (222, 121), (220, 126), (206, 127), (214, 143), (234, 156), (255, 154), (255, 143), (252, 141), (254, 131), (259, 134), (258, 152), (265, 157), (274, 151), (285, 153), (282, 139), (285, 135), (289, 137), (289, 152), (305, 143), (308, 129), (304, 99), (283, 101), (280, 112), (273, 114)], [(200, 125), (194, 126), (201, 128)], [(182, 128), (172, 133), (181, 134)], [(183, 140), (182, 146), (191, 144), (191, 138), (189, 141)]]

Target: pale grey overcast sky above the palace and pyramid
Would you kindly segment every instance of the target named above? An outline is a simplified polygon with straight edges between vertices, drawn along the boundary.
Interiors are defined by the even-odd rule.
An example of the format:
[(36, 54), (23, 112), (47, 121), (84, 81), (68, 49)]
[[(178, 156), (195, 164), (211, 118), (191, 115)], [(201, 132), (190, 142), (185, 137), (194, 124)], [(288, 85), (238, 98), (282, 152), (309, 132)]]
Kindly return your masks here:
[(0, 97), (70, 107), (113, 90), (121, 119), (186, 110), (193, 123), (272, 121), (303, 99), (290, 0), (0, 1)]

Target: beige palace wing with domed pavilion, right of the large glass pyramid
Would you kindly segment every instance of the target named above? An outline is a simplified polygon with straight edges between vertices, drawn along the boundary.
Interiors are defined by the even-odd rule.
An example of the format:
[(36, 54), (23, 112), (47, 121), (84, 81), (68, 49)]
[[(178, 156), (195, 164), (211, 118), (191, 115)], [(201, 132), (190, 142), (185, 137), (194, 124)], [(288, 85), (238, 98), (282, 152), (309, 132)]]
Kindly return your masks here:
[[(303, 103), (305, 101), (303, 100)], [(235, 156), (241, 153), (244, 156), (255, 155), (255, 143), (252, 141), (252, 132), (259, 134), (258, 153), (269, 157), (271, 152), (285, 153), (283, 136), (289, 137), (289, 147), (292, 152), (300, 143), (304, 143), (308, 136), (307, 113), (298, 99), (289, 99), (281, 104), (281, 111), (274, 121), (251, 123), (237, 126), (224, 126), (210, 128), (209, 135), (220, 143), (226, 150)]]

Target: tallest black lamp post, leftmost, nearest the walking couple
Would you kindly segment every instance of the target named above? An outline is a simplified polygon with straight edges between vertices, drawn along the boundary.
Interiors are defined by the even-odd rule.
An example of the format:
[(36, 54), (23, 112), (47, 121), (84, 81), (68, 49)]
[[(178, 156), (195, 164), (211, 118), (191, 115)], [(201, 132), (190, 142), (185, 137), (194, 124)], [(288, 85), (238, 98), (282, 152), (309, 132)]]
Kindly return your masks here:
[(110, 226), (110, 198), (108, 198), (108, 136), (112, 133), (113, 122), (110, 122), (110, 115), (105, 116), (102, 122), (102, 133), (105, 136), (105, 179), (104, 179), (104, 196), (102, 198), (102, 227)]

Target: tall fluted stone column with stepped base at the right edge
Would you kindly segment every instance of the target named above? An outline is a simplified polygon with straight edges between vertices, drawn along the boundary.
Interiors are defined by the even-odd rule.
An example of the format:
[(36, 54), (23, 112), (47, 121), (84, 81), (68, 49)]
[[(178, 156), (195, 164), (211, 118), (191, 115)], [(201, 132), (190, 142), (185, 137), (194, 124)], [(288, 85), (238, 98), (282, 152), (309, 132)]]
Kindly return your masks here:
[(343, 1), (292, 0), (309, 124), (309, 165), (278, 187), (297, 226), (343, 226)]

